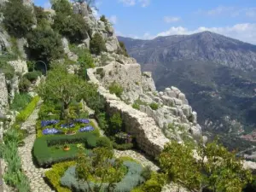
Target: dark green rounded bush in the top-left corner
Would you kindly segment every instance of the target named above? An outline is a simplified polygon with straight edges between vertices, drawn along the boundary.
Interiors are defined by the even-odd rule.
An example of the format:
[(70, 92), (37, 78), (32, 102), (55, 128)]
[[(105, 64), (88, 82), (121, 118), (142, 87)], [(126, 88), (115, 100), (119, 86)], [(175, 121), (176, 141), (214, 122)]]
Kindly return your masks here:
[(23, 5), (21, 0), (11, 0), (5, 3), (3, 9), (3, 25), (9, 34), (16, 38), (26, 37), (35, 24), (32, 9)]

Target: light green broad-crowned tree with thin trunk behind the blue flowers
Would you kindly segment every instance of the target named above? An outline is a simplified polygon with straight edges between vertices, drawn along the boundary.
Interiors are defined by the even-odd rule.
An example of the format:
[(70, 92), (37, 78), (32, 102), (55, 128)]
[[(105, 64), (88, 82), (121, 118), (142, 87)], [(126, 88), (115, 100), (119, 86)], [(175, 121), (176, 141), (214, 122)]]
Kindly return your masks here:
[[(38, 95), (45, 101), (58, 101), (63, 104), (62, 119), (67, 114), (68, 106), (73, 100), (78, 100), (86, 92), (87, 84), (77, 75), (67, 73), (67, 68), (54, 65), (48, 73), (45, 82), (39, 84)], [(67, 116), (67, 115), (66, 115)]]

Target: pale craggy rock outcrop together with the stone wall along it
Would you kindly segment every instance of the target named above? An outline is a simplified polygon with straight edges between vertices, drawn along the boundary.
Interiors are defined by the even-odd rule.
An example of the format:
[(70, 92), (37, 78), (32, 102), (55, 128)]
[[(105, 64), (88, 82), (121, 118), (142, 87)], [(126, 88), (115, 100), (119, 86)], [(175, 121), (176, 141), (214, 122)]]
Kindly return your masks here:
[[(169, 141), (167, 137), (183, 141), (184, 135), (191, 139), (201, 136), (196, 113), (185, 95), (176, 87), (156, 91), (151, 73), (142, 74), (139, 64), (110, 61), (104, 67), (88, 69), (87, 73), (90, 81), (99, 85), (107, 112), (121, 114), (126, 131), (137, 137), (139, 147), (146, 153), (159, 154)], [(121, 98), (109, 93), (108, 87), (113, 82), (123, 87)], [(138, 100), (140, 110), (131, 107)], [(158, 106), (156, 110), (150, 107), (153, 102)]]

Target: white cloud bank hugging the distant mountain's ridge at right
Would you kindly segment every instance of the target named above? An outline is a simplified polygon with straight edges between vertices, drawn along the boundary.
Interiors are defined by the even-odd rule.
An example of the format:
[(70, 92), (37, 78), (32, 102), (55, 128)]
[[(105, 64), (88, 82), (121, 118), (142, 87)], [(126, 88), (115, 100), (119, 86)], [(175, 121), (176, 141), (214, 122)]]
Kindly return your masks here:
[(201, 26), (195, 30), (189, 30), (188, 28), (185, 28), (183, 26), (177, 26), (177, 27), (172, 26), (166, 32), (160, 32), (155, 37), (169, 36), (169, 35), (182, 35), (182, 34), (189, 35), (196, 32), (204, 32), (204, 31), (216, 32), (230, 38), (236, 38), (247, 43), (256, 44), (256, 23), (241, 23), (241, 24), (236, 24), (234, 26), (224, 26), (224, 27)]

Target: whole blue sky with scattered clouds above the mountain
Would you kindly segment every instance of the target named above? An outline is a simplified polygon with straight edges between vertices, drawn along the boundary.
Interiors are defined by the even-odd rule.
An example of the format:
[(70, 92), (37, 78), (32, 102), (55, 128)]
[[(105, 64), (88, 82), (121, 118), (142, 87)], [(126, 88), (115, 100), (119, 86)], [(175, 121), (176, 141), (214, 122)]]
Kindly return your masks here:
[[(48, 8), (48, 0), (34, 0)], [(256, 0), (96, 0), (119, 36), (158, 36), (211, 31), (256, 44)]]

